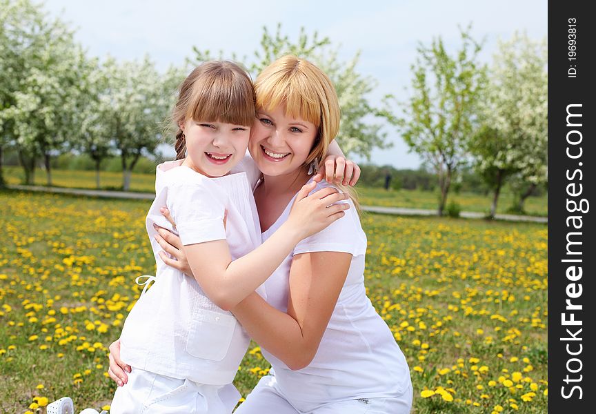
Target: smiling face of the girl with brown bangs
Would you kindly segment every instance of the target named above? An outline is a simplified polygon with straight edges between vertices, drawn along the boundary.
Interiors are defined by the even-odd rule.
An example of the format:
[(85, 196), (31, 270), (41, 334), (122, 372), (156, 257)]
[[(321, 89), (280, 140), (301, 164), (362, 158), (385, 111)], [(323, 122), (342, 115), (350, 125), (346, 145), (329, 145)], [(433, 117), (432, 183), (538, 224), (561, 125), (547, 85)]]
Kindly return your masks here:
[(244, 157), (250, 128), (222, 122), (187, 120), (180, 128), (186, 136), (183, 166), (207, 177), (221, 177)]

